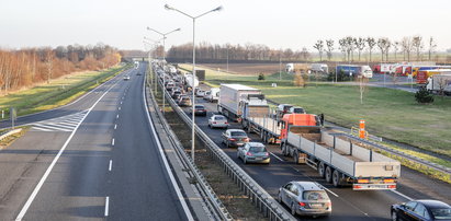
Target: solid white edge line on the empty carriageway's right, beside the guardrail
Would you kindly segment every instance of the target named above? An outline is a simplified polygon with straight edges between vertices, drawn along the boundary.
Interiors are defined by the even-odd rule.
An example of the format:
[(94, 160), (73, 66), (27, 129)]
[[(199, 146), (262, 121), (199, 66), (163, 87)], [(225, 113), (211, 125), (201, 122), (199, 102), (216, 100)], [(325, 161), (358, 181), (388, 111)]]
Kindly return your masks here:
[(188, 208), (187, 202), (184, 201), (184, 197), (183, 197), (182, 193), (180, 191), (179, 185), (177, 184), (176, 178), (173, 177), (173, 174), (172, 174), (172, 172), (171, 172), (171, 168), (169, 167), (168, 160), (166, 159), (165, 153), (164, 153), (164, 151), (162, 151), (159, 137), (158, 137), (157, 131), (155, 130), (154, 124), (153, 124), (153, 121), (151, 121), (151, 119), (150, 119), (149, 112), (147, 111), (147, 102), (146, 102), (146, 94), (145, 94), (145, 93), (146, 93), (146, 88), (145, 88), (145, 84), (144, 84), (145, 82), (146, 82), (146, 81), (143, 81), (143, 100), (144, 100), (143, 108), (144, 108), (144, 112), (145, 112), (146, 115), (147, 115), (147, 120), (148, 120), (149, 126), (150, 126), (150, 129), (151, 129), (151, 131), (153, 131), (153, 133), (154, 133), (154, 138), (155, 138), (155, 140), (157, 141), (158, 152), (160, 153), (160, 156), (161, 156), (162, 162), (164, 162), (164, 164), (165, 164), (166, 172), (168, 173), (169, 178), (171, 179), (173, 189), (176, 190), (177, 196), (179, 197), (179, 201), (180, 201), (180, 203), (182, 205), (182, 208), (183, 208), (183, 210), (184, 210), (184, 213), (187, 214), (188, 220), (194, 221), (194, 218), (193, 218), (193, 216), (191, 214), (191, 211), (190, 211), (190, 209)]

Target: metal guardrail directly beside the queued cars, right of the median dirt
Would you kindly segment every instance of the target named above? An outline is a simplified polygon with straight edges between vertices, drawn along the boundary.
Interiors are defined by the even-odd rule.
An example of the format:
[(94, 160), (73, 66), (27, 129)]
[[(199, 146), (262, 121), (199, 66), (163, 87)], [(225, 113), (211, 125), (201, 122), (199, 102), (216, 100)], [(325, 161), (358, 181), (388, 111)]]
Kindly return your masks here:
[[(162, 82), (158, 80), (159, 84)], [(166, 90), (165, 96), (172, 109), (191, 127), (191, 118), (176, 104)], [(201, 139), (213, 159), (215, 159), (224, 168), (225, 173), (238, 185), (238, 187), (251, 199), (251, 202), (259, 208), (260, 212), (269, 220), (296, 220), (287, 212), (271, 195), (269, 195), (256, 181), (253, 181), (241, 167), (239, 167), (210, 137), (195, 125), (195, 133)]]

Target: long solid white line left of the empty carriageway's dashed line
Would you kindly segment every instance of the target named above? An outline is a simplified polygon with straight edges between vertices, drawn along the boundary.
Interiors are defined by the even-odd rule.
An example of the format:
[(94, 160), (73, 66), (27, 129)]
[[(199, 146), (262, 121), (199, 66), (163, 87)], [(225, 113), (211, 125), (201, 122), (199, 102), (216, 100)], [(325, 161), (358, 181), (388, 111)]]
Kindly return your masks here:
[[(116, 82), (117, 83), (117, 82)], [(67, 146), (69, 144), (70, 140), (72, 139), (74, 135), (77, 132), (78, 128), (80, 127), (81, 123), (84, 121), (86, 117), (91, 113), (94, 106), (106, 95), (106, 93), (116, 84), (114, 83), (110, 89), (108, 89), (102, 96), (99, 97), (98, 101), (88, 109), (87, 114), (83, 116), (83, 119), (78, 123), (75, 127), (74, 131), (70, 133), (69, 138), (67, 138), (66, 142), (63, 144), (61, 149), (59, 150), (58, 154), (54, 158), (50, 165), (48, 166), (47, 171), (45, 171), (44, 175), (41, 177), (40, 183), (37, 183), (36, 187), (33, 189), (32, 194), (30, 195), (29, 199), (26, 200), (25, 205), (23, 206), (21, 212), (19, 212), (18, 217), (15, 218), (16, 221), (20, 221), (25, 216), (26, 211), (29, 210), (30, 206), (32, 205), (34, 198), (36, 198), (37, 193), (41, 190), (41, 187), (44, 185), (44, 182), (47, 179), (48, 175), (50, 174), (53, 167), (55, 166), (56, 162), (58, 161), (59, 156), (66, 150)]]

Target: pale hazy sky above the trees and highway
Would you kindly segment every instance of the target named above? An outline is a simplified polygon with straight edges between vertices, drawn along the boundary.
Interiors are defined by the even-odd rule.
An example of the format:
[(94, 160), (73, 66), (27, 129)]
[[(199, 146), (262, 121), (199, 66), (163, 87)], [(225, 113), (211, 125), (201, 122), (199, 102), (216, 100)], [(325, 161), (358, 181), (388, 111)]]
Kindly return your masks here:
[(0, 47), (102, 42), (144, 49), (144, 36), (159, 38), (146, 26), (181, 27), (168, 36), (167, 48), (191, 43), (192, 20), (165, 10), (166, 3), (191, 15), (224, 7), (196, 20), (196, 43), (314, 50), (317, 39), (419, 34), (433, 36), (440, 50), (451, 48), (450, 0), (0, 0)]

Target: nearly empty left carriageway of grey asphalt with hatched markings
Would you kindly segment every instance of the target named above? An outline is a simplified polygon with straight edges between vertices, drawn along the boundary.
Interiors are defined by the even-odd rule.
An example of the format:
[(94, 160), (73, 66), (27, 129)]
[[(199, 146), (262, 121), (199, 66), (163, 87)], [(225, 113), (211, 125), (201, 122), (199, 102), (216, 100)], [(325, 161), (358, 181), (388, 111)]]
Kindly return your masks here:
[(0, 220), (192, 220), (149, 124), (145, 69), (19, 118), (32, 128), (0, 151)]

